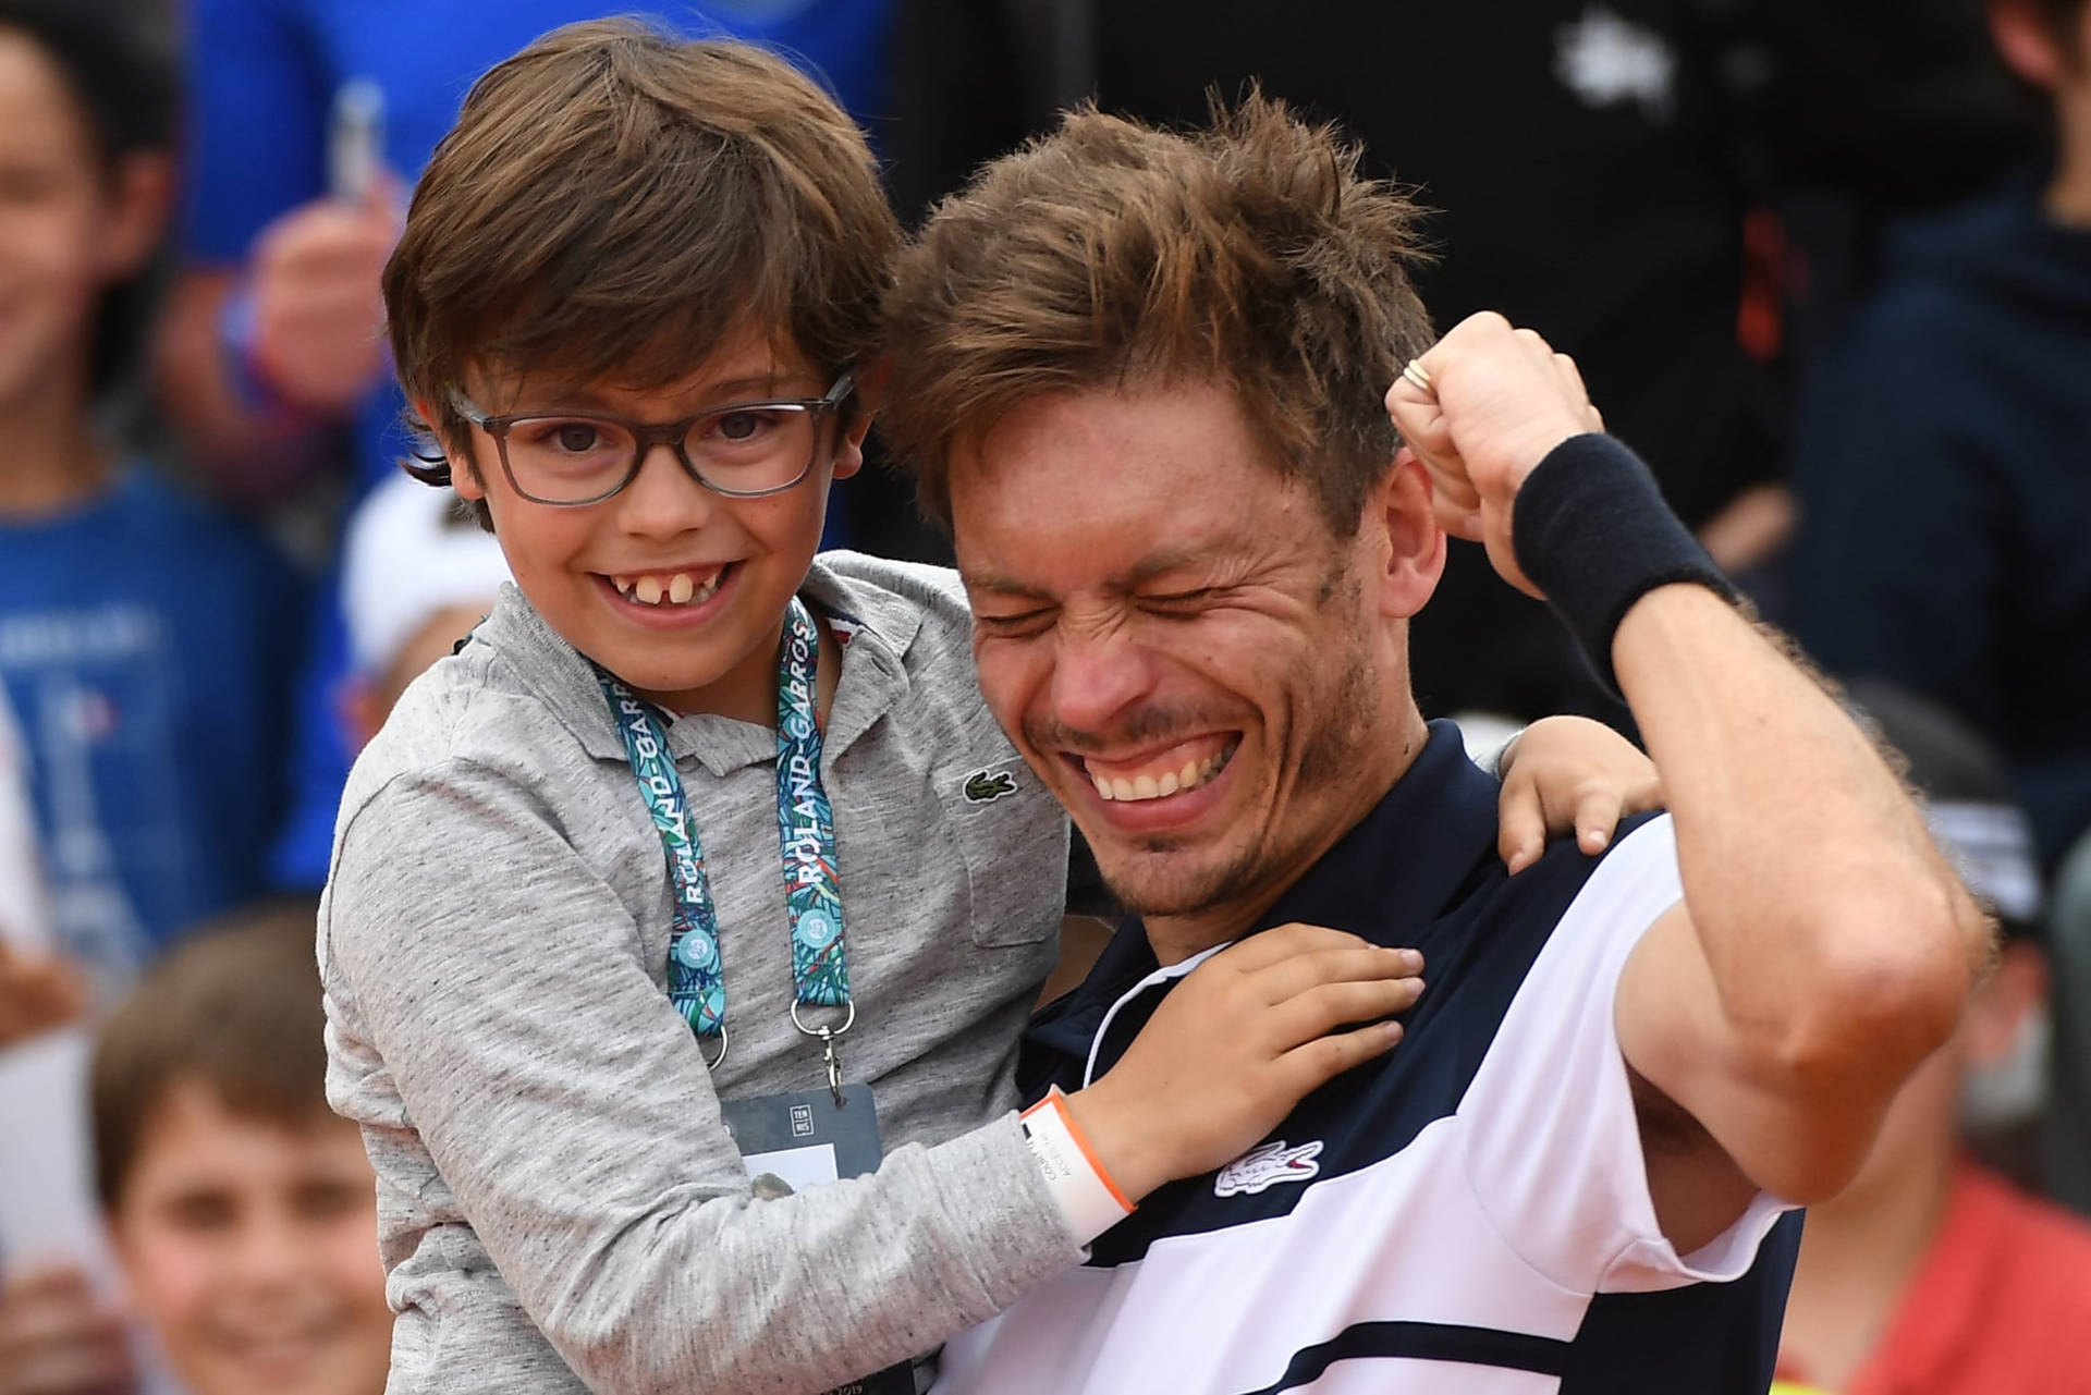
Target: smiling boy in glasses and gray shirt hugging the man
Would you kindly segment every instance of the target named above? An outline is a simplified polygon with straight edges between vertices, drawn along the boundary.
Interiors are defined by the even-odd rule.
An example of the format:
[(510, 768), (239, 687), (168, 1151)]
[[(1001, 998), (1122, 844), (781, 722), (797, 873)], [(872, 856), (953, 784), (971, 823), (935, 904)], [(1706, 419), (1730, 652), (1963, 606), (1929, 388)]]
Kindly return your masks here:
[(1418, 993), (1257, 937), (1027, 1140), (1066, 816), (958, 579), (813, 556), (895, 243), (813, 84), (625, 23), (487, 73), (416, 190), (393, 358), (516, 586), (366, 747), (320, 910), (393, 1395), (914, 1391)]

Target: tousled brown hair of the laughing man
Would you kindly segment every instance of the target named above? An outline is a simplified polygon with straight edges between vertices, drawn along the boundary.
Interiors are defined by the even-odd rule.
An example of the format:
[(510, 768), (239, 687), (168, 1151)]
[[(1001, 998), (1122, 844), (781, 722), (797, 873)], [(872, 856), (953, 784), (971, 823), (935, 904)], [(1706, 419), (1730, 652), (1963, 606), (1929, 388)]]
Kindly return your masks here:
[(1418, 207), (1359, 148), (1250, 92), (1177, 134), (1094, 109), (981, 169), (901, 253), (887, 439), (951, 523), (949, 458), (1041, 393), (1227, 383), (1338, 535), (1399, 437), (1382, 397), (1430, 343)]

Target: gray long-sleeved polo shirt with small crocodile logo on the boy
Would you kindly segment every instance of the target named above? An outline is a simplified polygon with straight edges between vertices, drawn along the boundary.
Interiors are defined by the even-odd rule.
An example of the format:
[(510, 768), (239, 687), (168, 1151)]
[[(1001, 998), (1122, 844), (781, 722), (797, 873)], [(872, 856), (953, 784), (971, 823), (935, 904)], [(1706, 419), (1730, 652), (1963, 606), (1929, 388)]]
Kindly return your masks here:
[(790, 1023), (776, 732), (669, 728), (726, 958), (711, 1073), (667, 1002), (661, 839), (594, 673), (504, 588), (355, 763), (320, 906), (326, 1088), (378, 1175), (393, 1395), (824, 1391), (1079, 1263), (1010, 1079), (1066, 820), (981, 703), (951, 573), (828, 554), (801, 594), (845, 640), (822, 776), (845, 1069), (884, 1165), (755, 1203), (719, 1121), (719, 1098), (824, 1079)]

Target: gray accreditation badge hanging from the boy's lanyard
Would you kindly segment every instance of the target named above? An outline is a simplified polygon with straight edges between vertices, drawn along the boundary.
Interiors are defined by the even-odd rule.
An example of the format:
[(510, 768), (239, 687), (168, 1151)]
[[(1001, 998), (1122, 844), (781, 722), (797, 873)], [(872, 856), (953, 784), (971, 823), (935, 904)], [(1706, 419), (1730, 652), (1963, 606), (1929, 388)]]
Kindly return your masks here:
[[(811, 1186), (878, 1171), (878, 1104), (870, 1085), (763, 1094), (719, 1104), (740, 1148), (757, 1200), (790, 1196)], [(901, 1362), (876, 1376), (841, 1385), (830, 1395), (916, 1395), (914, 1366)]]

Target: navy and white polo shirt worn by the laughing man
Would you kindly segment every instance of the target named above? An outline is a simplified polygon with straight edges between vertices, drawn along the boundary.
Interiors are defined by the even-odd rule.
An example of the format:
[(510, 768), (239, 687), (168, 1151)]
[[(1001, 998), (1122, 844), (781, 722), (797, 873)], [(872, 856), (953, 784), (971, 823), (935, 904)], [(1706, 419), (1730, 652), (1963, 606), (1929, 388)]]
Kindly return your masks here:
[[(953, 1339), (937, 1391), (1769, 1387), (1800, 1219), (1759, 1196), (1713, 1244), (1675, 1253), (1612, 1029), (1627, 954), (1683, 893), (1669, 818), (1598, 860), (1560, 843), (1512, 878), (1495, 797), (1457, 728), (1432, 724), (1401, 782), (1257, 927), (1422, 950), (1430, 987), (1401, 1046)], [(1158, 968), (1127, 924), (1033, 1023), (1029, 1092), (1110, 1069), (1196, 962)]]

